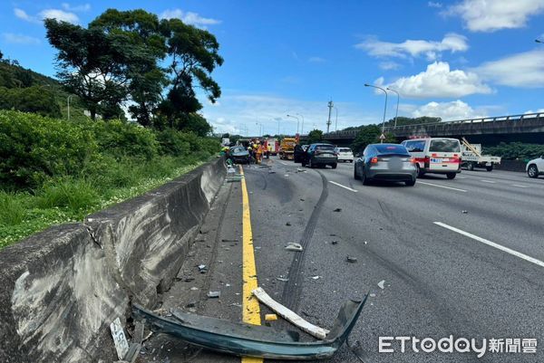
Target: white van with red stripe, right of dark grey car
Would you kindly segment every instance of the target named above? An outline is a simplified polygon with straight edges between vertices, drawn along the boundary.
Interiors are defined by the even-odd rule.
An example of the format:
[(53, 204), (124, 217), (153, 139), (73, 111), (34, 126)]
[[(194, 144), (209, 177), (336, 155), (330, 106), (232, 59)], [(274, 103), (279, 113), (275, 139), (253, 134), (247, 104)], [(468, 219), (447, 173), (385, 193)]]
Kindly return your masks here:
[(418, 176), (445, 174), (448, 179), (461, 173), (461, 143), (458, 139), (407, 139), (401, 143), (415, 159)]

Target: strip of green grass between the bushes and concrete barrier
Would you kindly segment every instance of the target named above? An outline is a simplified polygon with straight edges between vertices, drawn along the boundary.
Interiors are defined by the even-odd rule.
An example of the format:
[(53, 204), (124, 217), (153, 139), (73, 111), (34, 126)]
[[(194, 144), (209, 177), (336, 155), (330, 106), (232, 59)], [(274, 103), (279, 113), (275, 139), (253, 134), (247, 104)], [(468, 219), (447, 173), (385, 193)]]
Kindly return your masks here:
[(33, 194), (0, 190), (0, 249), (53, 224), (82, 221), (110, 205), (120, 203), (169, 182), (209, 159), (198, 153), (186, 158), (107, 158), (80, 177), (48, 180)]

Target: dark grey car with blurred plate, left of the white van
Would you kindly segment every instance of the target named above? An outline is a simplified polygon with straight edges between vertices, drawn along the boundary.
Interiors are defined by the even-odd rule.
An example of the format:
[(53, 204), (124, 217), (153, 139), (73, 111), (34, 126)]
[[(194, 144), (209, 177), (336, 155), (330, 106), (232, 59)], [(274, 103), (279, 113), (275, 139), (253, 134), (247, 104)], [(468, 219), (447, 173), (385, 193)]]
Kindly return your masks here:
[(415, 159), (403, 145), (370, 144), (355, 160), (354, 177), (366, 186), (373, 180), (402, 181), (413, 186), (417, 178)]

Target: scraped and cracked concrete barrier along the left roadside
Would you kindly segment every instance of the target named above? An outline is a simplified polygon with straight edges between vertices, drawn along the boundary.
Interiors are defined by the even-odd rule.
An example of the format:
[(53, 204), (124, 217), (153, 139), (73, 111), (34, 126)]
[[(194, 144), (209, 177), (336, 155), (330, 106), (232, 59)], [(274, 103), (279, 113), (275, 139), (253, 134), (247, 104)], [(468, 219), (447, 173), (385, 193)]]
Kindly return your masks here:
[(225, 176), (220, 158), (0, 252), (0, 361), (116, 360), (110, 323), (170, 288)]

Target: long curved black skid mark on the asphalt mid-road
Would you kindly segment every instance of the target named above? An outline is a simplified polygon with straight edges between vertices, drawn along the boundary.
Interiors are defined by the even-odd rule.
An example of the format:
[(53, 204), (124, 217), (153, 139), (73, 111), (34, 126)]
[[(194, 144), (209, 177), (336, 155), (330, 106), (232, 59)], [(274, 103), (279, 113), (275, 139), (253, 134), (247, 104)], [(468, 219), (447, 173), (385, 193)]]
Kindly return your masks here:
[(304, 234), (302, 234), (302, 238), (300, 239), (300, 244), (302, 245), (303, 251), (300, 253), (295, 253), (293, 255), (293, 261), (291, 262), (291, 266), (289, 267), (289, 281), (286, 283), (282, 294), (283, 304), (291, 310), (296, 310), (298, 308), (298, 303), (300, 302), (300, 296), (303, 289), (303, 279), (300, 272), (302, 272), (302, 269), (304, 267), (304, 259), (306, 256), (307, 248), (312, 241), (314, 231), (316, 230), (317, 219), (321, 214), (321, 209), (323, 208), (325, 200), (328, 196), (328, 181), (320, 171), (317, 171), (317, 173), (321, 176), (321, 181), (323, 183), (321, 196), (317, 201), (316, 207), (314, 208), (312, 215), (310, 215), (310, 219), (308, 219)]

